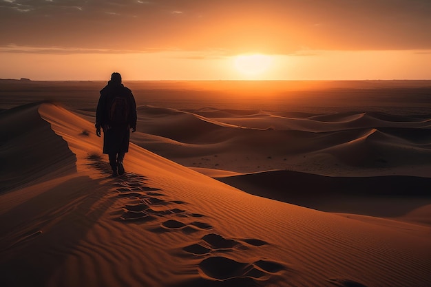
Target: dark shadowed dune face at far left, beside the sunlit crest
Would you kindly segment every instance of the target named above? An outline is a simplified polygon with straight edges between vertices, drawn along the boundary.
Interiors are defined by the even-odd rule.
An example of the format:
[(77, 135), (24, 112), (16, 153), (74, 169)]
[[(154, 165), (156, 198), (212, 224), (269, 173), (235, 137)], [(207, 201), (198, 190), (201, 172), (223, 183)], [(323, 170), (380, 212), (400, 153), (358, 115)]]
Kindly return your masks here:
[(0, 114), (0, 193), (45, 178), (47, 166), (50, 177), (76, 171), (76, 156), (38, 109), (39, 103), (28, 104)]

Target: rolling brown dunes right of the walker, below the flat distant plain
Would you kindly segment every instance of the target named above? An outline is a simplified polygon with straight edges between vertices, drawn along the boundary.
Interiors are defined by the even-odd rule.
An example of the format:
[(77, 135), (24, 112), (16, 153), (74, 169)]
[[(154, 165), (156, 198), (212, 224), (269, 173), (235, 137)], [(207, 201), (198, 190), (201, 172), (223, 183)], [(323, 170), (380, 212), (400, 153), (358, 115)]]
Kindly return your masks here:
[(140, 107), (138, 114), (134, 142), (187, 167), (332, 176), (431, 174), (430, 118), (423, 115), (348, 112), (286, 118), (276, 115), (280, 112), (151, 106)]

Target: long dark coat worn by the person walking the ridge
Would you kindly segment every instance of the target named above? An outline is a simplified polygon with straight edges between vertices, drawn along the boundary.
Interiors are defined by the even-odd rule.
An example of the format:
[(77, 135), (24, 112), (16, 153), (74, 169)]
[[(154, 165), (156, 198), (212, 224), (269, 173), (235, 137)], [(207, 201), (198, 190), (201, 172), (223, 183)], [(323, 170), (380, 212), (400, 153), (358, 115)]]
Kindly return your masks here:
[[(109, 109), (116, 96), (127, 98), (129, 119), (124, 124), (109, 121)], [(101, 90), (96, 109), (96, 128), (103, 129), (103, 153), (127, 153), (129, 151), (130, 128), (136, 128), (136, 102), (132, 91), (121, 83), (109, 81)]]

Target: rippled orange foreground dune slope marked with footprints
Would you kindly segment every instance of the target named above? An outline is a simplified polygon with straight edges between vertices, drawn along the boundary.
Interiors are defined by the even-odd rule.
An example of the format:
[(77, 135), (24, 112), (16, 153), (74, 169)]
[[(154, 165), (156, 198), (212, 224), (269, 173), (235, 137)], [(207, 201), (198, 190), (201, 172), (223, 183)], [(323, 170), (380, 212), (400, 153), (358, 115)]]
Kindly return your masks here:
[[(429, 286), (429, 227), (249, 195), (136, 145), (127, 175), (109, 178), (92, 123), (52, 104), (7, 116), (27, 123), (20, 136), (32, 145), (67, 146), (2, 142), (17, 162), (49, 156), (28, 161), (43, 176), (0, 195), (1, 286)], [(2, 182), (34, 174), (9, 169)]]

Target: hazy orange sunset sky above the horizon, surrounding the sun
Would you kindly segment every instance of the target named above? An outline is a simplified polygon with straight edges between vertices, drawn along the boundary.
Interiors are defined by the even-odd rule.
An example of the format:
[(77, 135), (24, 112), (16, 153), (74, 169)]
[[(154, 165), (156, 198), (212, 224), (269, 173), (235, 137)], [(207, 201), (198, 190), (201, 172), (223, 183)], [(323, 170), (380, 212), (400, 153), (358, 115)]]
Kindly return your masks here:
[[(431, 0), (0, 0), (0, 78), (431, 78)], [(263, 72), (235, 68), (264, 54)]]

